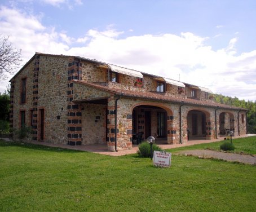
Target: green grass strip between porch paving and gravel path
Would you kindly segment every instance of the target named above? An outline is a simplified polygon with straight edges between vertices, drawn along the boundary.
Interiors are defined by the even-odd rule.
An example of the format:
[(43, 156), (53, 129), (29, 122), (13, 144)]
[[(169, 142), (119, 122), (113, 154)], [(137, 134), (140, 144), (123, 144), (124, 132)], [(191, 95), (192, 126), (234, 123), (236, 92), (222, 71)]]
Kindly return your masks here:
[[(187, 147), (168, 149), (166, 151), (178, 152), (186, 149), (213, 149), (216, 151), (220, 151), (219, 147), (225, 141), (229, 141), (229, 140), (223, 140), (221, 142), (213, 142), (213, 143), (206, 143), (206, 144), (196, 144), (196, 145), (191, 145)], [(234, 153), (256, 154), (256, 136), (232, 139), (232, 143), (235, 145), (235, 150), (232, 151)]]

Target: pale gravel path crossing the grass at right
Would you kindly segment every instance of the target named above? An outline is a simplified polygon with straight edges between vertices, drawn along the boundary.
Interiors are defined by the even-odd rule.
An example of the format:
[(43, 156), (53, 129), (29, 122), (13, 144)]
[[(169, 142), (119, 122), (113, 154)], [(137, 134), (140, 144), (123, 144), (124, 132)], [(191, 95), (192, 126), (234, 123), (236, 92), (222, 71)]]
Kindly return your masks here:
[(176, 154), (183, 154), (186, 156), (198, 156), (200, 158), (218, 158), (225, 161), (237, 161), (242, 164), (256, 165), (256, 157), (249, 154), (236, 154), (227, 152), (217, 152), (207, 149), (194, 149), (194, 150), (184, 150)]

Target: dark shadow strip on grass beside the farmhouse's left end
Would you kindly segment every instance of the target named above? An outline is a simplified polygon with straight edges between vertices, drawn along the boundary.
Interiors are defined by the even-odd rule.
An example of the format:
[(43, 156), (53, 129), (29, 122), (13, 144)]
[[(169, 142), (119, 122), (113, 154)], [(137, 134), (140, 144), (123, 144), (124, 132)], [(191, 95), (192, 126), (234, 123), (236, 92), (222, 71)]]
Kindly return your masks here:
[[(0, 147), (22, 147), (27, 149), (50, 151), (50, 152), (67, 152), (67, 153), (81, 153), (85, 151), (79, 151), (75, 149), (64, 149), (60, 147), (48, 147), (41, 144), (30, 144), (26, 142), (16, 142), (16, 141), (5, 141), (0, 139)], [(88, 153), (88, 152), (86, 152)]]

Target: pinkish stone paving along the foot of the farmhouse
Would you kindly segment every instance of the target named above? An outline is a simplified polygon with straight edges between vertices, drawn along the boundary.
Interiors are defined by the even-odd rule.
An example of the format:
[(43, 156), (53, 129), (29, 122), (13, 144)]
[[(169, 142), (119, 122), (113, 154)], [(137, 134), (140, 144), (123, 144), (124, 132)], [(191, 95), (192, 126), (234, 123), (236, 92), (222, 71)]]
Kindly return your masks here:
[[(233, 138), (244, 138), (248, 136), (255, 136), (255, 134), (246, 134), (241, 136), (234, 136)], [(219, 142), (223, 140), (224, 137), (220, 137), (219, 139), (212, 139), (212, 140), (189, 140), (186, 144), (163, 144), (165, 140), (158, 140), (157, 145), (159, 145), (162, 149), (173, 149), (177, 147), (186, 147), (189, 145), (195, 145), (195, 144), (202, 144), (202, 143), (212, 143), (212, 142)], [(159, 142), (159, 143), (158, 143)], [(94, 152), (99, 154), (106, 154), (109, 156), (122, 156), (126, 154), (134, 154), (138, 151), (137, 145), (133, 145), (133, 148), (125, 151), (118, 151), (118, 152), (109, 152), (108, 147), (105, 144), (94, 144), (94, 145), (65, 145), (65, 144), (52, 144), (52, 143), (46, 143), (46, 142), (36, 142), (36, 141), (29, 141), (28, 143), (33, 144), (40, 144), (40, 145), (46, 145), (49, 147), (59, 147), (64, 149), (74, 149), (79, 151), (86, 151), (86, 152)]]

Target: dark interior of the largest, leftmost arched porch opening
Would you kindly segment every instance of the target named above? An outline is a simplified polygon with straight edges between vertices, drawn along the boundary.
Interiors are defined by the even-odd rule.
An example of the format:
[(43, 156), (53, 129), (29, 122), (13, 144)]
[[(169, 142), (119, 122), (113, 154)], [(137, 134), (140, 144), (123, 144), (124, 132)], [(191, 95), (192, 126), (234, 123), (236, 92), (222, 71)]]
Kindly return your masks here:
[(173, 116), (170, 109), (159, 105), (140, 104), (133, 108), (133, 138), (143, 133), (142, 140), (154, 136), (156, 143), (172, 144)]

